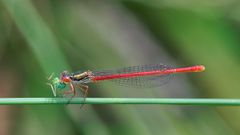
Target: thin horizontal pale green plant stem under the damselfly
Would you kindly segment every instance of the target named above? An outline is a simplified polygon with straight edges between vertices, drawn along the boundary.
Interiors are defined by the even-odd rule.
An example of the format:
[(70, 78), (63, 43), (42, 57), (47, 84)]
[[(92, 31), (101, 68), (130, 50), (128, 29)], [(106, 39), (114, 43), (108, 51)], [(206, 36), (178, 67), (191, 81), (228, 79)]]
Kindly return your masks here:
[(46, 104), (159, 104), (240, 106), (240, 99), (207, 98), (0, 98), (0, 105), (46, 105)]

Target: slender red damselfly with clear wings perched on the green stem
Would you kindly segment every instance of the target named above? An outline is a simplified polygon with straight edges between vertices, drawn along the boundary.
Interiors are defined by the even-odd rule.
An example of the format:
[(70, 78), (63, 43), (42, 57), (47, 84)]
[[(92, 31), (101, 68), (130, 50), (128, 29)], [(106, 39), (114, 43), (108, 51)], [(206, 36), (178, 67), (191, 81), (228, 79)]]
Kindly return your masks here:
[(50, 83), (47, 84), (51, 87), (54, 96), (58, 96), (58, 91), (64, 90), (69, 86), (70, 89), (64, 91), (64, 95), (72, 94), (72, 97), (74, 97), (77, 95), (76, 89), (80, 89), (85, 99), (88, 94), (88, 83), (111, 80), (124, 86), (149, 88), (167, 83), (171, 80), (172, 75), (176, 73), (202, 72), (204, 70), (205, 67), (202, 65), (170, 68), (163, 64), (151, 64), (114, 70), (85, 71), (80, 73), (68, 73), (67, 71), (63, 71), (59, 78), (53, 78), (52, 74), (48, 78)]

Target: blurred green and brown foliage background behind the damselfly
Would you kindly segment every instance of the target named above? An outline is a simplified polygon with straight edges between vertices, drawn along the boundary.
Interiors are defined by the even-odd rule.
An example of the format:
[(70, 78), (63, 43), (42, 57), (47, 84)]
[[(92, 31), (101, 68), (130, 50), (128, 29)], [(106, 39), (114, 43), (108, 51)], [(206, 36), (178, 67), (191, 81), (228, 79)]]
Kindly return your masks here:
[[(153, 89), (103, 82), (89, 97), (239, 98), (237, 0), (1, 0), (0, 96), (52, 97), (52, 72), (203, 64)], [(1, 135), (237, 135), (239, 107), (1, 106)]]

